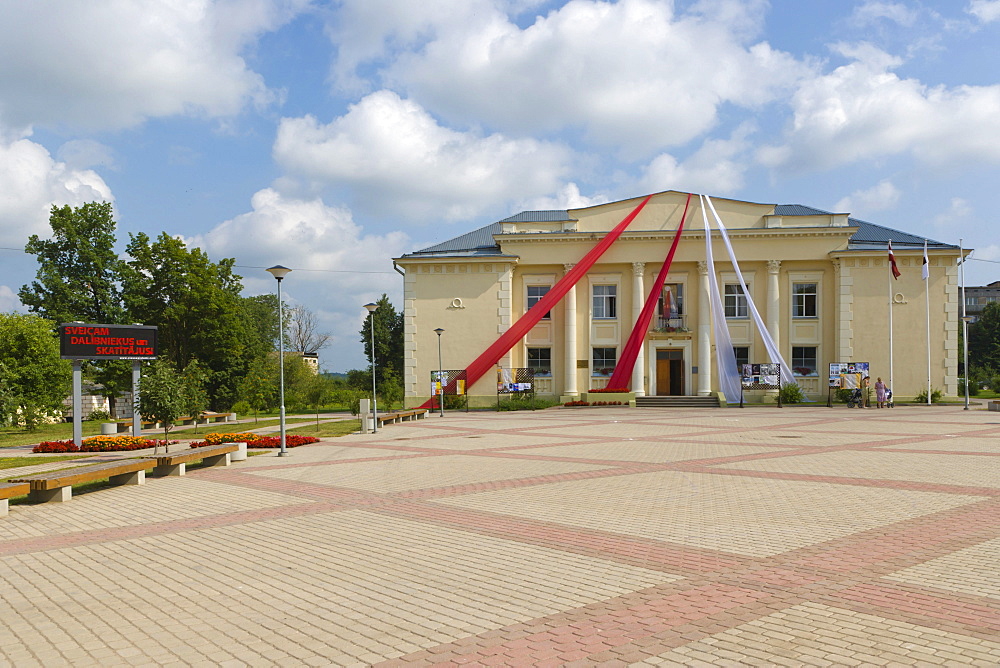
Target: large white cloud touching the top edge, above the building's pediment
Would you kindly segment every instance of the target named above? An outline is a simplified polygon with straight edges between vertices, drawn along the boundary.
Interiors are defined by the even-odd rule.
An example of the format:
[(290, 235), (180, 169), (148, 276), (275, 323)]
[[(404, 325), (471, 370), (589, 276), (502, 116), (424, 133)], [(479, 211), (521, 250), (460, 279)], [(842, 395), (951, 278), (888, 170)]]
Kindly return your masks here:
[[(368, 0), (345, 4), (379, 11), (362, 9)], [(377, 53), (367, 57), (384, 63), (388, 87), (450, 123), (582, 130), (623, 155), (684, 144), (716, 124), (720, 105), (758, 108), (811, 71), (752, 41), (763, 2), (706, 0), (675, 15), (657, 0), (572, 0), (523, 29), (486, 2), (431, 5), (437, 18), (409, 32), (396, 20), (403, 10), (389, 7), (363, 24), (378, 26), (381, 38), (367, 42)], [(409, 48), (386, 47), (392, 38)], [(365, 57), (352, 53), (347, 69)]]

